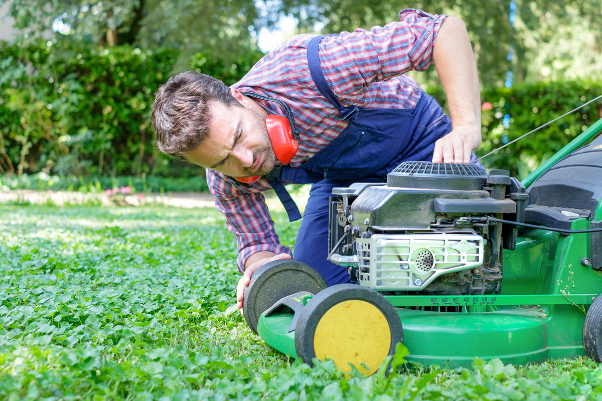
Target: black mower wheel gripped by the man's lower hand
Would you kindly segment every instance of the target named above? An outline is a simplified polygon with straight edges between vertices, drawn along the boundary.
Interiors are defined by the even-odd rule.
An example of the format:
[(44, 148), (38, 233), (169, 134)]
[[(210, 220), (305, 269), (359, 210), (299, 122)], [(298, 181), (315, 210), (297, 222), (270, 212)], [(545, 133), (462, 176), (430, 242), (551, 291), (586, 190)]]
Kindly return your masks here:
[(281, 298), (299, 291), (316, 294), (327, 287), (317, 270), (298, 260), (275, 260), (261, 266), (244, 289), (243, 313), (257, 334), (259, 316)]

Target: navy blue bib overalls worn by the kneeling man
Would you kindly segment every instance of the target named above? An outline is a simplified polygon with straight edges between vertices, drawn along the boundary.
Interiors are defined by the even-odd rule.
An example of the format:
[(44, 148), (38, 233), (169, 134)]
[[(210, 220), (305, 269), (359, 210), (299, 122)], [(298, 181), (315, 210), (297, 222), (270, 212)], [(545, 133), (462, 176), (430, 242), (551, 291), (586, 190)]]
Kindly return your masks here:
[[(329, 286), (350, 283), (347, 269), (328, 262), (328, 204), (332, 188), (354, 182), (385, 182), (386, 174), (403, 161), (430, 161), (435, 141), (452, 130), (451, 119), (433, 97), (423, 93), (415, 109), (344, 108), (324, 79), (318, 57), (323, 36), (307, 48), (309, 71), (322, 96), (349, 125), (330, 144), (298, 168), (283, 166), (268, 182), (291, 221), (299, 210), (280, 182), (312, 183), (309, 201), (294, 246), (294, 259), (315, 268)], [(472, 155), (471, 162), (476, 161)], [(274, 179), (275, 175), (279, 175)], [(272, 179), (270, 179), (270, 176)]]

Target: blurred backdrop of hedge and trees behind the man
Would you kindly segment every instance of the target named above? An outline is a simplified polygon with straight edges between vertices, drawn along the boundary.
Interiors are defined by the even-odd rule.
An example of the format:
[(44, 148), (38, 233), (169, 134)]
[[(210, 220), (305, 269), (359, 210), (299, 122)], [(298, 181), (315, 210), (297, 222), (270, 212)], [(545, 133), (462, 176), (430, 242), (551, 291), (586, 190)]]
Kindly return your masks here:
[[(602, 0), (0, 0), (0, 190), (206, 190), (203, 169), (155, 148), (159, 85), (186, 70), (233, 84), (286, 38), (408, 7), (467, 25), (479, 155), (602, 94)], [(434, 67), (411, 75), (445, 105)], [(600, 117), (592, 103), (483, 164), (524, 177)]]

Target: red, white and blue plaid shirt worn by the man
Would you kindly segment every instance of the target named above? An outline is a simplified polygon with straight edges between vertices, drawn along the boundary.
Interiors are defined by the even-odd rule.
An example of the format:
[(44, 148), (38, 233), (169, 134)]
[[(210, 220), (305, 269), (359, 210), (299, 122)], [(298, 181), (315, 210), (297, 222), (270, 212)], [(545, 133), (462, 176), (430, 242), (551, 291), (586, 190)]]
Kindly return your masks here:
[[(357, 29), (321, 40), (319, 54), (324, 77), (344, 107), (412, 109), (416, 106), (420, 88), (403, 73), (427, 69), (433, 60), (437, 32), (446, 16), (406, 9), (400, 11), (399, 17), (400, 22), (375, 26), (370, 31)], [(320, 152), (347, 126), (338, 109), (321, 96), (311, 78), (307, 64), (311, 38), (299, 35), (285, 41), (233, 85), (284, 100), (293, 110), (300, 130), (299, 150), (290, 162), (293, 167)], [(285, 115), (276, 103), (253, 100), (270, 114)], [(260, 179), (246, 189), (232, 185), (230, 179), (216, 171), (207, 169), (206, 173), (216, 207), (226, 216), (228, 229), (236, 234), (241, 272), (247, 258), (259, 251), (291, 254), (290, 248), (280, 245), (265, 205), (261, 192), (272, 189), (266, 180)]]

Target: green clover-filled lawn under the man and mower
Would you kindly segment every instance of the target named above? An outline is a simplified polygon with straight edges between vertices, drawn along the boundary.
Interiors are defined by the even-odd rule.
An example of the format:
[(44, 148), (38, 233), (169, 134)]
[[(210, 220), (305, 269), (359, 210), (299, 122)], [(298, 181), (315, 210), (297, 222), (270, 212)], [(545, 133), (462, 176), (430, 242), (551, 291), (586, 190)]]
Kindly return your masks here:
[(602, 399), (586, 358), (449, 370), (400, 348), (388, 377), (310, 368), (228, 314), (235, 256), (209, 208), (0, 206), (0, 400)]

